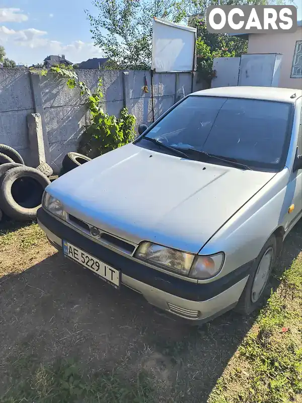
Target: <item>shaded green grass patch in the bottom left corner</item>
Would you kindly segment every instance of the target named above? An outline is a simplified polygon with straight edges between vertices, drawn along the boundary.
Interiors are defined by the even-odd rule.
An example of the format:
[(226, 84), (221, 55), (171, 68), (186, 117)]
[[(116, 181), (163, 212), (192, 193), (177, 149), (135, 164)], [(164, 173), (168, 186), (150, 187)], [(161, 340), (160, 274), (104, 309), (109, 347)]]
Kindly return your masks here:
[[(150, 403), (152, 384), (140, 372), (130, 381), (112, 373), (85, 374), (77, 363), (67, 360), (52, 366), (36, 366), (30, 358), (17, 360), (14, 382), (0, 398), (1, 403)], [(26, 375), (25, 375), (26, 374)]]

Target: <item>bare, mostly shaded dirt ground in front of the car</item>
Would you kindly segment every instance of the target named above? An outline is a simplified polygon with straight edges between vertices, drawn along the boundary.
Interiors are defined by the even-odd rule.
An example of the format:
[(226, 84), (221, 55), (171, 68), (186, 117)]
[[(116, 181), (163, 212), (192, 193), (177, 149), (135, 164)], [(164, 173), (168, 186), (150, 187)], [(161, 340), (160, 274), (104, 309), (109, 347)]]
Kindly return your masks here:
[[(276, 276), (301, 250), (300, 225), (286, 240)], [(272, 280), (274, 289), (278, 284)], [(12, 363), (74, 358), (88, 374), (118, 371), (134, 379), (146, 371), (158, 392), (152, 401), (205, 403), (223, 371), (234, 370), (230, 360), (256, 318), (230, 312), (201, 328), (168, 321), (140, 295), (118, 292), (64, 259), (36, 224), (0, 237), (0, 395)], [(241, 371), (244, 383), (249, 370)]]

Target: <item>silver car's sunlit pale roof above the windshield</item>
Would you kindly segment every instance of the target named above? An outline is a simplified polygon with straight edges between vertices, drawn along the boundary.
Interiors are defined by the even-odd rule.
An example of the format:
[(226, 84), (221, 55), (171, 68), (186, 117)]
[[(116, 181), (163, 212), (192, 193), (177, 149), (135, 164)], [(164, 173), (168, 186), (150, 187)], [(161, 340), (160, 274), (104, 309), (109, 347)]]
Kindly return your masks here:
[[(295, 94), (296, 96), (291, 98)], [(276, 87), (217, 87), (207, 90), (193, 92), (191, 95), (199, 96), (221, 96), (229, 98), (250, 98), (267, 101), (280, 101), (294, 103), (300, 96), (302, 90), (293, 88)]]

